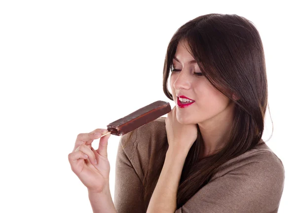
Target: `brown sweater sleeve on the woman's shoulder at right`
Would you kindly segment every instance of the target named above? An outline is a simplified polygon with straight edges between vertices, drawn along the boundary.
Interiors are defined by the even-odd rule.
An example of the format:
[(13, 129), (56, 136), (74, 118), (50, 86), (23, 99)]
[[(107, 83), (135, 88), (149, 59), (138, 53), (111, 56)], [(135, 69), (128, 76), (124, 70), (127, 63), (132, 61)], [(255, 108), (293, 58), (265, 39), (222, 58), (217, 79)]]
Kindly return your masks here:
[(285, 179), (282, 161), (262, 150), (238, 165), (211, 180), (175, 213), (277, 213)]

